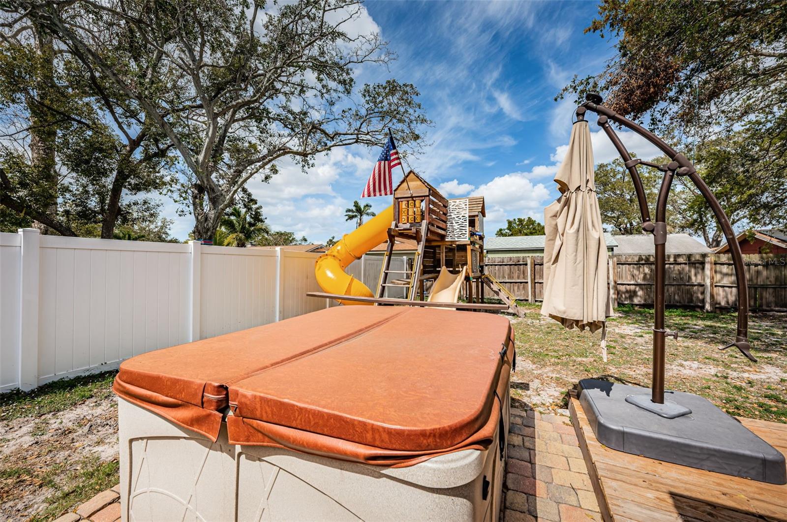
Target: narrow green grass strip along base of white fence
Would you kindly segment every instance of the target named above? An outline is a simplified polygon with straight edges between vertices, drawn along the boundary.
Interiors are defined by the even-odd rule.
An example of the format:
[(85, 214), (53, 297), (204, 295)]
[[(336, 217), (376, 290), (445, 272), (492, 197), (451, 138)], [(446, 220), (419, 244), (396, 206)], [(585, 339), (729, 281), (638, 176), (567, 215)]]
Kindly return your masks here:
[(64, 411), (89, 398), (109, 397), (116, 374), (116, 371), (97, 373), (54, 381), (33, 391), (0, 394), (0, 420), (38, 417)]

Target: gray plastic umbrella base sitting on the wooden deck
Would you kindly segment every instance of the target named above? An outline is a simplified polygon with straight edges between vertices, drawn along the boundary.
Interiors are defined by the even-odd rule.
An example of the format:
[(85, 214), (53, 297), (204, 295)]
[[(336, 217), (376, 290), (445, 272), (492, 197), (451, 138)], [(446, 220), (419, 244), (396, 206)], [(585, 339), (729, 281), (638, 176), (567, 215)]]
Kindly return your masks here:
[(646, 395), (649, 402), (650, 390), (598, 379), (579, 381), (579, 402), (598, 442), (691, 468), (787, 483), (784, 455), (708, 399), (667, 391), (664, 402), (691, 410), (667, 418), (626, 401), (637, 395)]

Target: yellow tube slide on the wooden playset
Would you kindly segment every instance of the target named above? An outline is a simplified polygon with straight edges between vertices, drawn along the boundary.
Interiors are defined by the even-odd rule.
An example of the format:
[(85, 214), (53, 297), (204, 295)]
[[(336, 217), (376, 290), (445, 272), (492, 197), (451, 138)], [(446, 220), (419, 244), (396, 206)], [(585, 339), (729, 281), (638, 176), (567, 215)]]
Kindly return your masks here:
[[(388, 239), (388, 228), (393, 222), (393, 205), (344, 235), (325, 254), (317, 258), (314, 274), (317, 283), (328, 294), (353, 295), (373, 298), (375, 294), (359, 280), (345, 272), (350, 263)], [(367, 302), (342, 301), (342, 305), (371, 305)]]

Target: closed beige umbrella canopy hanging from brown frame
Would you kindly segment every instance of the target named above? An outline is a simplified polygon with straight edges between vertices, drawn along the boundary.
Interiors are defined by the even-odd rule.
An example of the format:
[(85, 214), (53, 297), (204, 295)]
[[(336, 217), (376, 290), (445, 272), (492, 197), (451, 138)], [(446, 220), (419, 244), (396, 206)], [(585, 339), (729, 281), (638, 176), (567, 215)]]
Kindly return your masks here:
[(566, 328), (597, 331), (611, 315), (611, 307), (607, 245), (586, 121), (578, 121), (571, 129), (571, 143), (555, 183), (560, 198), (544, 210), (545, 286), (541, 313)]

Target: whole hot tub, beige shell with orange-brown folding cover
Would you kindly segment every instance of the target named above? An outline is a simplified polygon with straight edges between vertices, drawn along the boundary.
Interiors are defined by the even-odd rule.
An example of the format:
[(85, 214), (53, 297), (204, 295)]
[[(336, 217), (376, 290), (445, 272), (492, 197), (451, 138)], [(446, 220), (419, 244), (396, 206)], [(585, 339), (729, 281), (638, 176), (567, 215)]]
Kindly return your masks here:
[(498, 520), (504, 317), (336, 307), (125, 361), (124, 520)]

